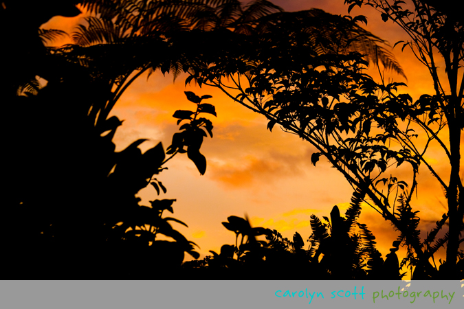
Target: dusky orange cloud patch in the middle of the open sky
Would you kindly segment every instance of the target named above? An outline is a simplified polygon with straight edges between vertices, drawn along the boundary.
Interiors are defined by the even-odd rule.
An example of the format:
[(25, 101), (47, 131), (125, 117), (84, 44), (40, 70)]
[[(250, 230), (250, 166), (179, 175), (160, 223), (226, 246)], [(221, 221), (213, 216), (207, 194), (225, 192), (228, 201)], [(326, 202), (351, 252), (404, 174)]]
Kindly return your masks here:
[[(220, 128), (219, 139), (208, 141), (205, 152), (210, 173), (208, 177), (230, 188), (250, 187), (261, 182), (298, 179), (309, 167), (311, 146), (307, 143), (295, 145), (291, 135), (260, 135), (265, 128), (235, 125)], [(272, 133), (274, 134), (274, 133)], [(221, 137), (223, 137), (221, 139)], [(290, 141), (289, 141), (290, 139)]]

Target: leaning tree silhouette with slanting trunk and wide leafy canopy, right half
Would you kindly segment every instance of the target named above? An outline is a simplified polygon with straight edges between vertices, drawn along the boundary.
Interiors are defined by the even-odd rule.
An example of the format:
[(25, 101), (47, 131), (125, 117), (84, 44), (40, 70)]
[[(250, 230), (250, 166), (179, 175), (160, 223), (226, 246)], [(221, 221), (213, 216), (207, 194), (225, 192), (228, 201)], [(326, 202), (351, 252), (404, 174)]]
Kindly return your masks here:
[[(424, 19), (427, 12), (426, 9), (421, 10), (417, 16)], [(287, 18), (279, 19), (279, 22), (267, 23), (267, 33), (243, 38), (239, 50), (223, 52), (221, 49), (221, 52), (214, 52), (212, 58), (205, 58), (201, 65), (192, 69), (187, 82), (195, 79), (200, 85), (219, 87), (236, 102), (265, 115), (269, 119), (269, 130), (275, 124), (280, 124), (283, 130), (309, 141), (318, 150), (311, 156), (314, 165), (321, 155), (329, 159), (353, 188), (365, 192), (365, 201), (370, 200), (369, 205), (401, 232), (399, 240), (404, 241), (415, 254), (415, 258), (408, 255), (408, 259), (419, 266), (415, 278), (421, 277), (419, 269), (425, 269), (429, 275), (434, 273), (434, 266), (428, 260), (437, 248), (428, 247), (433, 238), (428, 238), (427, 244), (420, 241), (416, 230), (417, 218), (406, 216), (399, 211), (399, 207), (395, 209), (395, 204), (398, 203), (397, 196), (402, 194), (404, 201), (399, 204), (409, 205), (417, 189), (419, 165), (426, 165), (447, 191), (448, 201), (454, 205), (449, 206), (454, 210), (444, 215), (450, 217), (453, 214), (453, 220), (456, 220), (454, 230), (450, 222), (450, 233), (454, 231), (456, 240), (452, 244), (454, 249), (448, 249), (447, 253), (451, 259), (448, 276), (454, 277), (457, 272), (451, 270), (456, 269), (456, 246), (462, 242), (459, 233), (463, 230), (462, 211), (456, 212), (459, 203), (456, 194), (461, 184), (459, 142), (462, 128), (456, 120), (461, 117), (462, 109), (456, 93), (456, 78), (450, 79), (450, 82), (454, 81), (451, 84), (454, 89), (452, 95), (447, 96), (440, 90), (436, 95), (422, 95), (412, 102), (410, 95), (395, 94), (397, 87), (404, 83), (387, 84), (383, 77), (382, 82), (377, 83), (363, 73), (367, 61), (362, 55), (352, 52), (357, 46), (352, 45), (354, 41), (320, 39), (315, 29), (307, 30), (308, 21), (299, 19), (301, 14), (297, 12), (294, 17), (290, 14)], [(439, 15), (430, 17), (431, 21), (441, 19), (443, 25), (448, 25), (443, 14), (433, 14)], [(340, 28), (333, 27), (333, 33), (324, 32), (323, 37), (337, 38), (336, 34), (346, 29), (342, 26), (356, 20), (336, 19), (342, 20), (338, 24)], [(429, 39), (430, 44), (443, 49), (441, 54), (454, 54), (454, 58), (445, 56), (445, 60), (452, 59), (445, 62), (450, 64), (448, 73), (456, 76), (459, 63), (462, 64), (462, 36), (456, 34), (448, 37), (442, 34), (437, 38), (439, 34), (430, 32), (430, 26), (421, 23), (420, 17), (408, 27), (421, 25), (421, 31), (429, 37), (433, 35)], [(459, 33), (461, 30), (456, 28)], [(248, 52), (250, 50), (253, 52)], [(424, 53), (427, 50), (424, 49)], [(429, 63), (432, 63), (430, 69), (433, 72), (434, 62)], [(224, 82), (224, 77), (232, 82)], [(439, 85), (439, 82), (436, 84)], [(450, 117), (451, 120), (448, 119)], [(415, 129), (418, 128), (423, 129), (426, 135), (425, 146), (414, 141), (418, 136)], [(453, 149), (454, 156), (440, 138), (439, 133), (443, 128), (450, 130), (450, 149)], [(445, 185), (431, 163), (424, 158), (430, 142), (434, 140), (439, 141), (450, 159), (454, 158), (454, 161), (451, 160), (450, 185), (454, 186), (451, 191), (450, 185)], [(398, 146), (390, 146), (394, 144)], [(404, 180), (387, 176), (395, 165), (403, 163), (410, 165), (412, 181), (409, 186)], [(437, 225), (438, 229), (441, 227), (443, 224)], [(443, 244), (449, 237), (450, 234), (445, 235), (445, 238), (437, 241), (437, 245)]]

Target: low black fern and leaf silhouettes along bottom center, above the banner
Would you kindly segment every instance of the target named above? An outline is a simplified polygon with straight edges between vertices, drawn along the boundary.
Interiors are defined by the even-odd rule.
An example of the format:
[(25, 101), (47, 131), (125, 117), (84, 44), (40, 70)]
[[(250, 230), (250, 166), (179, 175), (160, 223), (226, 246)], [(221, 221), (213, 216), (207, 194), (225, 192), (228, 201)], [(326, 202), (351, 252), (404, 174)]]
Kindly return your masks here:
[[(308, 249), (303, 249), (298, 232), (290, 241), (276, 230), (251, 227), (247, 218), (230, 216), (223, 225), (236, 234), (235, 244), (224, 244), (219, 254), (210, 251), (212, 256), (200, 262), (184, 263), (184, 278), (193, 279), (189, 275), (195, 274), (202, 279), (401, 279), (405, 273), (399, 274), (403, 265), (395, 253), (400, 242), (393, 242), (384, 261), (375, 249), (375, 236), (356, 222), (361, 201), (362, 193), (355, 192), (346, 218), (337, 206), (330, 219), (324, 217), (327, 223), (311, 215)], [(360, 233), (351, 232), (356, 226)], [(265, 241), (256, 239), (261, 235)]]

